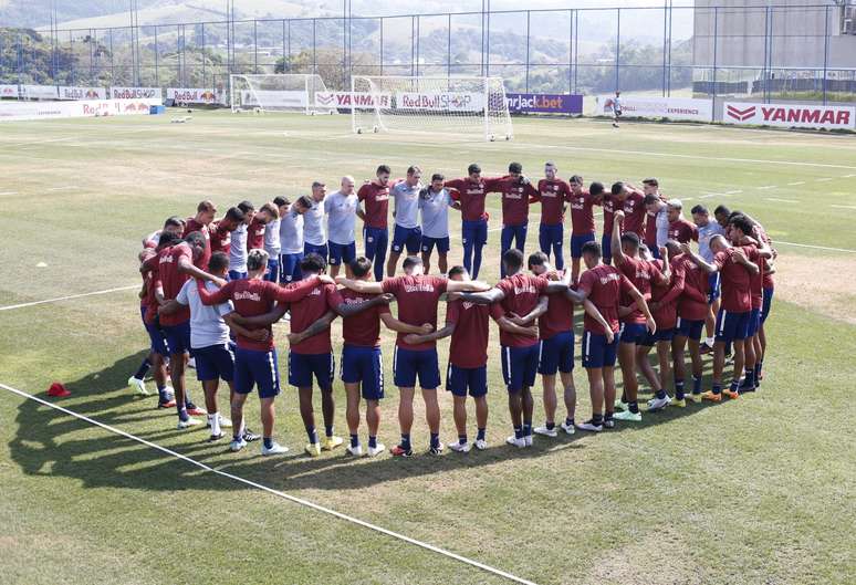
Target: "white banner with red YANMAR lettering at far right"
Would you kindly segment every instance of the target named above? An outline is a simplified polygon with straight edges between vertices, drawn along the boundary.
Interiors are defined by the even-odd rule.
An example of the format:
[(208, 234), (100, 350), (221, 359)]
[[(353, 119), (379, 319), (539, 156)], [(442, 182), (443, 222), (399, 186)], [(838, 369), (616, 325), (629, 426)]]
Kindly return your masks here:
[(722, 122), (785, 128), (856, 128), (856, 107), (725, 102)]

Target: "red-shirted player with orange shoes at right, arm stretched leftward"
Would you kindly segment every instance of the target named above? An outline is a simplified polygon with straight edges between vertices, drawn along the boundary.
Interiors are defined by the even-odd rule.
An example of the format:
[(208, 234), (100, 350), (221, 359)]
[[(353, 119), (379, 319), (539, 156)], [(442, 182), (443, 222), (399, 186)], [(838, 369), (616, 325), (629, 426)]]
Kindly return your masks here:
[[(710, 239), (713, 262), (706, 262), (692, 252), (689, 244), (681, 244), (681, 250), (704, 272), (720, 272), (722, 282), (722, 306), (717, 314), (717, 337), (713, 343), (713, 388), (701, 397), (714, 403), (722, 401), (723, 394), (729, 398), (737, 398), (740, 395), (745, 356), (744, 341), (752, 311), (751, 275), (759, 272), (755, 263), (758, 252), (753, 251), (748, 255), (748, 248), (734, 248), (723, 236), (713, 236)], [(723, 389), (722, 370), (725, 366), (727, 343), (733, 346), (734, 376), (730, 388)]]

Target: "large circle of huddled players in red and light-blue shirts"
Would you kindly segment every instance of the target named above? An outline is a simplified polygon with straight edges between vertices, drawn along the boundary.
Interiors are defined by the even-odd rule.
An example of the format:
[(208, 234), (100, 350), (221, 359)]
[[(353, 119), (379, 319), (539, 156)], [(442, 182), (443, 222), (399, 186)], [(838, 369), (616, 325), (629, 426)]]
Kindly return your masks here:
[[(159, 391), (158, 406), (175, 407), (178, 428), (201, 425), (207, 415), (211, 440), (232, 429), (230, 449), (262, 438), (262, 455), (288, 448), (274, 441), (274, 398), (280, 393), (272, 324), (290, 321), (288, 379), (297, 388), (309, 441), (306, 453), (343, 445), (334, 433), (335, 358), (331, 324), (342, 317), (344, 344), (340, 377), (344, 383), (353, 456), (376, 456), (379, 400), (385, 368), (380, 324), (397, 333), (393, 355), (399, 390), (400, 441), (392, 455), (413, 455), (410, 430), (418, 387), (430, 431), (429, 452), (440, 441), (441, 385), (437, 342), (450, 337), (446, 388), (453, 396), (458, 439), (447, 443), (468, 452), (488, 447), (489, 322), (500, 330), (502, 377), (508, 390), (513, 435), (507, 442), (525, 448), (533, 433), (556, 437), (576, 429), (599, 432), (616, 421), (640, 421), (637, 372), (654, 390), (647, 411), (686, 408), (688, 403), (721, 401), (754, 391), (763, 377), (764, 322), (773, 296), (773, 260), (762, 226), (740, 211), (719, 206), (710, 217), (696, 206), (685, 219), (681, 201), (659, 191), (656, 179), (641, 188), (615, 182), (584, 187), (583, 178), (559, 178), (553, 163), (533, 185), (519, 163), (508, 175), (484, 178), (478, 165), (468, 176), (447, 180), (440, 174), (424, 185), (417, 166), (390, 180), (386, 165), (358, 190), (353, 177), (327, 194), (316, 181), (312, 195), (294, 201), (276, 197), (258, 210), (249, 201), (217, 218), (211, 201), (195, 217), (170, 217), (144, 239), (139, 254), (144, 286), (142, 314), (152, 351), (129, 384), (146, 393), (149, 368)], [(501, 280), (478, 280), (488, 241), (486, 199), (502, 201)], [(389, 200), (394, 201), (388, 246)], [(541, 206), (540, 251), (524, 257), (529, 208)], [(595, 236), (594, 208), (603, 210), (603, 236)], [(564, 217), (570, 208), (571, 267), (564, 267)], [(449, 209), (461, 213), (462, 265), (449, 269)], [(357, 255), (356, 219), (363, 221), (365, 255)], [(326, 219), (326, 221), (325, 221)], [(698, 242), (693, 251), (691, 243)], [(389, 258), (387, 259), (387, 248)], [(439, 275), (430, 274), (437, 249)], [(400, 262), (403, 274), (396, 275)], [(582, 265), (585, 270), (582, 270)], [(341, 274), (341, 267), (345, 273)], [(327, 274), (330, 268), (330, 274)], [(386, 275), (384, 275), (386, 268)], [(447, 301), (438, 326), (438, 304)], [(389, 310), (395, 302), (397, 312)], [(592, 415), (575, 420), (574, 309), (582, 305), (582, 365), (586, 369)], [(658, 367), (648, 354), (656, 348)], [(687, 380), (685, 354), (690, 356)], [(702, 355), (712, 353), (712, 387), (702, 390)], [(723, 379), (727, 355), (733, 374)], [(197, 407), (186, 388), (188, 357), (205, 393)], [(623, 394), (616, 397), (618, 362)], [(533, 427), (532, 388), (543, 380), (545, 422)], [(556, 376), (564, 390), (564, 420), (556, 420)], [(168, 379), (171, 386), (168, 385)], [(219, 414), (219, 382), (228, 384), (231, 420)], [(671, 382), (674, 396), (667, 387)], [(691, 387), (685, 384), (690, 382)], [(316, 429), (313, 386), (321, 390), (323, 437)], [(258, 388), (261, 437), (244, 425), (247, 396)], [(468, 435), (467, 396), (476, 404), (476, 440)], [(368, 443), (359, 439), (361, 398), (365, 400)]]

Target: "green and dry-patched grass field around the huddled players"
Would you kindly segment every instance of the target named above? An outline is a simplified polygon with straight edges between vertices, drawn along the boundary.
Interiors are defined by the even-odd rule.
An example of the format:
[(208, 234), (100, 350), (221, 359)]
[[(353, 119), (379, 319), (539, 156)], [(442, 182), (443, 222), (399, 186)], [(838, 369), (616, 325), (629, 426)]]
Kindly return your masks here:
[[(73, 395), (60, 404), (75, 412), (539, 584), (856, 581), (853, 137), (528, 119), (515, 121), (513, 142), (483, 144), (354, 136), (344, 116), (197, 113), (184, 125), (169, 117), (0, 126), (0, 383), (44, 397), (51, 382), (63, 382)], [(492, 349), (487, 451), (356, 461), (340, 450), (309, 459), (296, 393), (283, 385), (278, 436), (292, 452), (262, 460), (257, 446), (233, 455), (225, 442), (206, 442), (205, 430), (175, 430), (173, 411), (157, 411), (154, 397), (125, 387), (147, 347), (135, 290), (4, 309), (136, 285), (143, 234), (166, 216), (192, 215), (205, 198), (221, 210), (244, 198), (260, 203), (304, 194), (316, 178), (336, 185), (345, 174), (373, 177), (380, 163), (395, 176), (416, 163), (451, 177), (471, 161), (494, 175), (519, 160), (539, 177), (547, 159), (563, 177), (586, 181), (656, 176), (688, 207), (724, 202), (764, 223), (780, 262), (761, 391), (645, 415), (641, 425), (599, 436), (536, 439), (518, 451), (503, 445), (510, 422)], [(531, 250), (537, 215), (533, 209)], [(453, 242), (459, 234), (453, 221)], [(495, 282), (498, 231), (487, 251), (482, 278)], [(460, 260), (459, 246), (451, 259)], [(46, 268), (36, 268), (41, 262)], [(283, 356), (285, 332), (278, 328)], [(338, 323), (333, 332), (337, 338)], [(387, 356), (393, 339), (384, 334)], [(448, 343), (439, 347), (445, 363)], [(587, 414), (582, 368), (575, 378), (578, 411)], [(188, 379), (201, 400), (199, 384)], [(335, 394), (338, 433), (346, 436), (338, 382)], [(387, 386), (387, 446), (398, 437), (397, 394)], [(540, 421), (540, 388), (534, 394)], [(450, 440), (451, 400), (440, 395), (441, 438)], [(257, 400), (248, 406), (258, 428)], [(421, 451), (428, 431), (418, 396), (416, 409)], [(3, 583), (505, 581), (1, 388), (0, 443)]]

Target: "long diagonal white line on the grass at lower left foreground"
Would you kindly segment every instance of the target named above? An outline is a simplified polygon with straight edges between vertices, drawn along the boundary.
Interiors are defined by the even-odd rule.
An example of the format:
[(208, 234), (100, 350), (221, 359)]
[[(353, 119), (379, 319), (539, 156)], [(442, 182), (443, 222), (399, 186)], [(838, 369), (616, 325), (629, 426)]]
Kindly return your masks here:
[(157, 445), (155, 442), (147, 441), (146, 439), (142, 439), (142, 438), (137, 437), (136, 435), (132, 435), (129, 432), (125, 432), (124, 430), (119, 430), (119, 429), (117, 429), (115, 427), (111, 427), (109, 425), (105, 425), (104, 422), (98, 422), (97, 420), (92, 419), (90, 417), (86, 417), (86, 416), (83, 416), (83, 415), (79, 415), (77, 412), (74, 412), (73, 410), (69, 410), (67, 408), (63, 408), (62, 406), (55, 405), (53, 403), (49, 403), (48, 400), (44, 400), (42, 398), (39, 398), (39, 397), (33, 396), (31, 394), (28, 394), (28, 393), (25, 393), (23, 390), (19, 390), (18, 388), (12, 388), (11, 386), (7, 386), (6, 384), (2, 384), (2, 383), (0, 383), (0, 388), (4, 389), (7, 391), (10, 391), (12, 394), (17, 394), (18, 396), (21, 396), (21, 397), (27, 398), (29, 400), (36, 401), (36, 403), (39, 403), (39, 404), (41, 404), (43, 406), (46, 406), (49, 408), (53, 408), (54, 410), (59, 410), (61, 412), (65, 412), (69, 416), (72, 416), (74, 418), (77, 418), (80, 420), (88, 422), (90, 425), (94, 425), (96, 427), (100, 427), (100, 428), (102, 428), (104, 430), (113, 432), (114, 435), (118, 435), (121, 437), (125, 437), (126, 439), (131, 439), (133, 441), (137, 441), (139, 443), (143, 443), (146, 447), (150, 447), (153, 449), (156, 449), (156, 450), (158, 450), (158, 451), (160, 451), (163, 453), (166, 453), (166, 455), (168, 455), (170, 457), (174, 457), (176, 459), (179, 459), (181, 461), (190, 463), (191, 466), (196, 466), (199, 469), (202, 469), (205, 471), (209, 471), (209, 472), (211, 472), (211, 473), (213, 473), (216, 476), (220, 476), (220, 477), (223, 477), (226, 479), (230, 479), (232, 481), (237, 481), (238, 483), (243, 483), (244, 485), (249, 485), (251, 488), (255, 488), (258, 490), (262, 490), (262, 491), (264, 491), (267, 493), (270, 493), (271, 495), (276, 495), (279, 498), (282, 498), (283, 500), (288, 500), (290, 502), (293, 502), (293, 503), (296, 503), (296, 504), (310, 508), (311, 510), (314, 510), (316, 512), (322, 512), (324, 514), (328, 514), (328, 515), (335, 516), (335, 518), (337, 518), (340, 520), (344, 520), (345, 522), (351, 522), (352, 524), (356, 524), (358, 526), (363, 526), (365, 529), (378, 532), (380, 534), (385, 534), (386, 536), (390, 536), (393, 539), (397, 539), (399, 541), (404, 541), (404, 542), (406, 542), (408, 544), (414, 544), (416, 546), (419, 546), (419, 547), (425, 549), (427, 551), (430, 551), (432, 553), (440, 554), (440, 555), (446, 556), (448, 558), (452, 558), (452, 560), (458, 561), (460, 563), (464, 563), (467, 565), (473, 566), (476, 568), (480, 568), (481, 571), (484, 571), (484, 572), (488, 572), (488, 573), (492, 573), (494, 575), (498, 575), (500, 577), (507, 578), (509, 581), (513, 581), (515, 583), (521, 583), (523, 585), (535, 585), (535, 583), (533, 583), (531, 581), (524, 579), (522, 577), (518, 577), (516, 575), (512, 575), (511, 573), (507, 573), (507, 572), (504, 572), (502, 570), (494, 568), (494, 567), (490, 566), (490, 565), (486, 565), (484, 563), (480, 563), (478, 561), (473, 561), (472, 558), (468, 558), (466, 556), (461, 556), (459, 554), (452, 553), (451, 551), (447, 551), (446, 549), (440, 549), (439, 546), (435, 546), (432, 544), (428, 544), (426, 542), (421, 542), (421, 541), (418, 541), (416, 539), (411, 539), (410, 536), (406, 536), (406, 535), (400, 534), (398, 532), (393, 532), (392, 530), (387, 530), (387, 529), (384, 529), (382, 526), (377, 526), (375, 524), (366, 522), (365, 520), (359, 520), (358, 518), (349, 516), (347, 514), (343, 514), (342, 512), (336, 512), (333, 509), (325, 508), (323, 505), (319, 505), (316, 503), (313, 503), (313, 502), (311, 502), (309, 500), (304, 500), (302, 498), (290, 495), (290, 494), (288, 494), (285, 492), (282, 492), (282, 491), (279, 491), (279, 490), (274, 490), (273, 488), (269, 488), (269, 487), (263, 485), (261, 483), (257, 483), (254, 481), (241, 478), (239, 476), (234, 476), (234, 474), (229, 473), (227, 471), (220, 471), (219, 469), (216, 469), (216, 468), (212, 468), (210, 466), (207, 466), (207, 464), (205, 464), (205, 463), (202, 463), (200, 461), (197, 461), (196, 459), (191, 459), (191, 458), (189, 458), (189, 457), (187, 457), (185, 455), (181, 455), (179, 452), (173, 451), (171, 449), (167, 449), (166, 447), (161, 447), (160, 445)]

